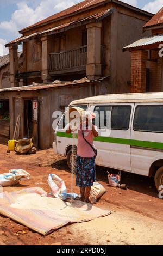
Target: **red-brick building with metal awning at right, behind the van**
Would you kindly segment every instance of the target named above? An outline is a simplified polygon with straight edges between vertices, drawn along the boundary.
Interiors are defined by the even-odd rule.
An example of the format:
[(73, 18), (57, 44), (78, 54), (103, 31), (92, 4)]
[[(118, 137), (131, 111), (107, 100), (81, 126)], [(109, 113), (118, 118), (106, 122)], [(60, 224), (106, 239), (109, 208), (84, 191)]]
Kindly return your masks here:
[(163, 8), (149, 20), (143, 37), (123, 48), (131, 52), (131, 92), (163, 91)]

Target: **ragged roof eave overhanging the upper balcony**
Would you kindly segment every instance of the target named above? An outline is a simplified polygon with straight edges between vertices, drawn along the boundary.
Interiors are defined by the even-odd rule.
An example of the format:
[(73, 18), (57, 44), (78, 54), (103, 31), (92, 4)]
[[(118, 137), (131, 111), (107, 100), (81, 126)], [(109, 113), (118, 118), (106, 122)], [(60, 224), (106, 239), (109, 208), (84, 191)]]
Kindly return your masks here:
[(83, 25), (86, 25), (86, 24), (89, 24), (92, 22), (101, 21), (101, 20), (105, 19), (106, 17), (108, 17), (109, 15), (111, 15), (113, 13), (114, 9), (115, 8), (110, 8), (108, 10), (101, 11), (100, 13), (86, 17), (82, 20), (65, 23), (58, 27), (49, 28), (49, 29), (46, 29), (45, 31), (36, 32), (36, 33), (30, 34), (28, 36), (21, 36), (20, 38), (17, 38), (14, 41), (11, 41), (8, 44), (6, 44), (5, 47), (9, 47), (11, 45), (20, 45), (22, 42), (26, 42), (26, 41), (29, 41), (29, 40), (32, 40), (35, 38), (39, 38), (41, 36), (57, 34), (57, 33), (68, 31), (72, 28), (83, 26)]

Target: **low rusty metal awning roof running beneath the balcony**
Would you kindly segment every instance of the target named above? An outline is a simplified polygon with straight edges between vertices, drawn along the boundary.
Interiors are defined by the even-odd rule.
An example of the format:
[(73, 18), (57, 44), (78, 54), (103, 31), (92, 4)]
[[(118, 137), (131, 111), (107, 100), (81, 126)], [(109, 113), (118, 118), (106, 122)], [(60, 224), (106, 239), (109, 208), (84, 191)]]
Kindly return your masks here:
[(74, 86), (76, 84), (82, 84), (82, 83), (89, 83), (91, 82), (87, 78), (83, 78), (80, 80), (75, 80), (75, 81), (68, 81), (68, 82), (58, 82), (54, 84), (31, 84), (29, 86), (21, 86), (21, 87), (9, 87), (9, 88), (4, 88), (0, 89), (1, 92), (21, 92), (21, 91), (31, 91), (31, 90), (42, 90), (42, 89), (50, 89), (50, 88), (55, 88), (55, 87), (61, 87), (61, 86)]

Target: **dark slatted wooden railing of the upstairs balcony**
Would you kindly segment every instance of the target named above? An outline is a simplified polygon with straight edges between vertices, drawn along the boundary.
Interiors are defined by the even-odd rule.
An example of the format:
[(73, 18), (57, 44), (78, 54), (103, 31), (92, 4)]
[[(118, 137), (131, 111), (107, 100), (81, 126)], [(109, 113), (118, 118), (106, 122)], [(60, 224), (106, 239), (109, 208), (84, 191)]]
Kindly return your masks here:
[[(50, 53), (48, 70), (50, 75), (85, 72), (87, 63), (87, 46), (73, 50)], [(105, 46), (101, 46), (101, 64), (105, 64)]]

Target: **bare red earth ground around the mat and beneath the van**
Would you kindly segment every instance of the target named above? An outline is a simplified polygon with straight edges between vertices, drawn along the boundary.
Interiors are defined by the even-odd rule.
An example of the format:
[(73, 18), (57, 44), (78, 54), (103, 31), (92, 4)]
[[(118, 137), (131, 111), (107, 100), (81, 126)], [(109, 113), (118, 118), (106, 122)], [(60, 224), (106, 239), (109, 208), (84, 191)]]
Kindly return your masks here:
[[(71, 187), (71, 173), (66, 159), (53, 154), (52, 149), (40, 150), (33, 155), (17, 155), (7, 153), (7, 146), (0, 145), (0, 174), (8, 173), (10, 169), (24, 169), (31, 178), (20, 184), (4, 187), (4, 191), (17, 191), (27, 187), (42, 187), (49, 192), (48, 175), (53, 173), (64, 179), (67, 189)], [(112, 211), (132, 211), (162, 223), (163, 200), (158, 198), (153, 178), (132, 173), (122, 173), (122, 184), (127, 184), (127, 190), (108, 186), (108, 168), (96, 168), (97, 181), (105, 188), (106, 193), (98, 200), (96, 206)], [(116, 172), (116, 171), (114, 171)], [(74, 191), (79, 189), (74, 186)], [(73, 225), (73, 224), (71, 224)], [(60, 228), (52, 234), (42, 236), (29, 230), (21, 224), (0, 215), (0, 245), (89, 245), (89, 240), (78, 237), (71, 231), (71, 225)]]

